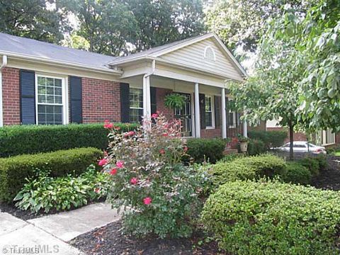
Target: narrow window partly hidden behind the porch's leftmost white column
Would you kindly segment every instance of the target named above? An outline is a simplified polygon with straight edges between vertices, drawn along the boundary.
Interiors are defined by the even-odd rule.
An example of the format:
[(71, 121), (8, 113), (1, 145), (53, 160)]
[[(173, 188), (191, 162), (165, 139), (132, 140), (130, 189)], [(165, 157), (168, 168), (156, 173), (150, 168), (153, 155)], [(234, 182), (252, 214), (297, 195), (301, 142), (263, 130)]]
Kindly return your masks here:
[(143, 90), (130, 88), (130, 123), (139, 123), (143, 116)]

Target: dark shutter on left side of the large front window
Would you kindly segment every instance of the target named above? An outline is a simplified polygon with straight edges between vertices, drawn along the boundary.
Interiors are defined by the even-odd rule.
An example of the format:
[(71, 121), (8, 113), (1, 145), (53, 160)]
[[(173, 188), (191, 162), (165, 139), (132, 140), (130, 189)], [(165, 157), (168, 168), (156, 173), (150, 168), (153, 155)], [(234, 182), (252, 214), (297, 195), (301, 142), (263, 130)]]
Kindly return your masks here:
[(20, 70), (20, 117), (22, 124), (35, 124), (35, 72)]

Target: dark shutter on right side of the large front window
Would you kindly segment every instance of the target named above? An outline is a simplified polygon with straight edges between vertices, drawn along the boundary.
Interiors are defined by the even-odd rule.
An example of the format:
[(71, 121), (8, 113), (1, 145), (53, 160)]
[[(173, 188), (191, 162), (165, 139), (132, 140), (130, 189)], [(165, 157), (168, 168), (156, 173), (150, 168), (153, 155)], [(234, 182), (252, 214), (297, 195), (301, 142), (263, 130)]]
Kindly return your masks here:
[(82, 86), (80, 77), (69, 77), (71, 122), (83, 123)]

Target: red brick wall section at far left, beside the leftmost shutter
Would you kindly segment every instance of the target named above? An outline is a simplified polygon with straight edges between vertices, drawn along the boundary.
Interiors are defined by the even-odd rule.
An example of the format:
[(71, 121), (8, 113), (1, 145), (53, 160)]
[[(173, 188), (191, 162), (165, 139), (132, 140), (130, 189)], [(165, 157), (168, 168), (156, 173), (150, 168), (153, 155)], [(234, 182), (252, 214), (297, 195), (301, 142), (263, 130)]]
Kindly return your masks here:
[(20, 124), (19, 69), (2, 69), (2, 104), (4, 125)]

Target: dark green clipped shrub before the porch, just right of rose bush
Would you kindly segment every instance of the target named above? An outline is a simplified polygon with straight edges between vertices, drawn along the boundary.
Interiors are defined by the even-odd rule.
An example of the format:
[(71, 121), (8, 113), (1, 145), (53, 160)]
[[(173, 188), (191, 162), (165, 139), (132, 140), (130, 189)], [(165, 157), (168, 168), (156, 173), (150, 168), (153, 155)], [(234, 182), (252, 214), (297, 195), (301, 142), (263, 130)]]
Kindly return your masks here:
[(222, 159), (225, 151), (226, 140), (219, 138), (191, 138), (187, 141), (188, 151), (186, 152), (193, 158), (194, 162), (212, 162)]

